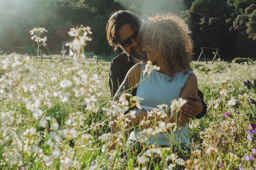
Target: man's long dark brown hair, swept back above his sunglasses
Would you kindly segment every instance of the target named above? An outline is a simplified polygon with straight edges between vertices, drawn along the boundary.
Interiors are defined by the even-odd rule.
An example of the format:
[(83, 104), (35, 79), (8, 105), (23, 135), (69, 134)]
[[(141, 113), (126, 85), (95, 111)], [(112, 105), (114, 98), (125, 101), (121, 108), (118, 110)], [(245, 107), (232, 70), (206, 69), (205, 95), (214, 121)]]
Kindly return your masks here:
[(117, 11), (111, 15), (107, 23), (107, 40), (109, 42), (109, 45), (114, 46), (114, 50), (116, 50), (118, 47), (116, 32), (127, 22), (132, 24), (132, 29), (135, 32), (140, 29), (142, 20), (138, 15), (130, 11)]

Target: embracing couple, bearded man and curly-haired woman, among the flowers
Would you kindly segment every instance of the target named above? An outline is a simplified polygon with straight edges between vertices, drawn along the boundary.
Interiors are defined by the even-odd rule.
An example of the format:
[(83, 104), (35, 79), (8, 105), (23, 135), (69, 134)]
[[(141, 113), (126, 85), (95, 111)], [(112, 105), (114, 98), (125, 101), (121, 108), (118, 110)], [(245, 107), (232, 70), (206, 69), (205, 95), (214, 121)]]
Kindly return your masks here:
[[(179, 144), (190, 143), (186, 122), (189, 118), (202, 118), (206, 114), (206, 104), (203, 94), (197, 88), (197, 77), (192, 72), (192, 41), (190, 31), (185, 22), (171, 14), (158, 14), (142, 21), (138, 15), (129, 11), (118, 11), (111, 15), (107, 26), (107, 40), (115, 50), (120, 47), (124, 52), (113, 59), (109, 69), (109, 88), (113, 100), (129, 87), (133, 96), (139, 96), (142, 109), (135, 109), (135, 114), (127, 114), (130, 124), (136, 126), (148, 118), (147, 111), (167, 104), (178, 98), (187, 100), (181, 113), (171, 117), (167, 113), (168, 122), (176, 122), (181, 128), (176, 131), (176, 141)], [(150, 74), (148, 81), (140, 82), (145, 70), (146, 61), (160, 67)], [(115, 120), (111, 126), (112, 135), (118, 131)], [(159, 118), (164, 121), (165, 119)], [(178, 121), (179, 120), (179, 121)], [(166, 122), (166, 123), (168, 123)], [(138, 141), (141, 129), (129, 134), (127, 143)], [(146, 143), (156, 146), (169, 146), (174, 143), (167, 138), (168, 134), (159, 133), (147, 139)], [(112, 141), (115, 139), (112, 138)], [(109, 151), (115, 148), (110, 146)]]

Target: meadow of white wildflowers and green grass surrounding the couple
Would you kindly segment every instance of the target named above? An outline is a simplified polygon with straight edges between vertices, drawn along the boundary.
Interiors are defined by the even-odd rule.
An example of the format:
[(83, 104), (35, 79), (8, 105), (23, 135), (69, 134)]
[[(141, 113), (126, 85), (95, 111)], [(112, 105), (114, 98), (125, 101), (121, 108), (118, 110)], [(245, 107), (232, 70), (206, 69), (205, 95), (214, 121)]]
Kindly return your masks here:
[[(108, 67), (84, 63), (85, 32), (90, 31), (85, 27), (72, 31), (75, 39), (68, 45), (73, 63), (0, 56), (0, 169), (147, 169), (146, 164), (169, 170), (178, 164), (187, 170), (256, 168), (256, 62), (194, 62), (208, 112), (188, 121), (190, 159), (184, 161), (170, 148), (153, 146), (132, 157), (125, 145), (128, 127), (123, 114), (117, 139), (122, 150), (107, 155), (110, 113), (137, 101), (111, 102)], [(157, 127), (150, 133), (177, 128), (175, 124)], [(123, 158), (126, 151), (128, 158)], [(158, 164), (155, 155), (162, 159)]]

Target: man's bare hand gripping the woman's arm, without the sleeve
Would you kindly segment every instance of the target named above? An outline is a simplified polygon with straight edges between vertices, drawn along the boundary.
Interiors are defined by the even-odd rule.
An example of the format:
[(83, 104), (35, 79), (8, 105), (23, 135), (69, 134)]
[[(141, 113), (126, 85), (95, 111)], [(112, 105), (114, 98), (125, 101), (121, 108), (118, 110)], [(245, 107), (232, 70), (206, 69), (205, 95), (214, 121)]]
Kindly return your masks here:
[(189, 95), (188, 97), (191, 100), (186, 99), (187, 103), (181, 107), (181, 110), (187, 117), (193, 118), (203, 111), (203, 104), (197, 95)]

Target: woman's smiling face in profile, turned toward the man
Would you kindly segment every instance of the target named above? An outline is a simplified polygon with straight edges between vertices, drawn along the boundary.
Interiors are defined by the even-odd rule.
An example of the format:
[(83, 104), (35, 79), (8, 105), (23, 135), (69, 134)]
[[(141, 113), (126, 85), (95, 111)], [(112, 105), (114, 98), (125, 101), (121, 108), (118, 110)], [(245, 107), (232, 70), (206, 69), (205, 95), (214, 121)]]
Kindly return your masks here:
[(158, 63), (160, 57), (160, 51), (158, 48), (154, 49), (151, 43), (146, 42), (142, 48), (142, 51), (146, 52), (148, 61), (151, 61), (152, 63)]

